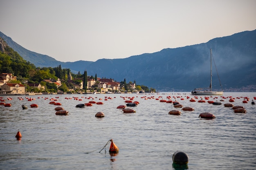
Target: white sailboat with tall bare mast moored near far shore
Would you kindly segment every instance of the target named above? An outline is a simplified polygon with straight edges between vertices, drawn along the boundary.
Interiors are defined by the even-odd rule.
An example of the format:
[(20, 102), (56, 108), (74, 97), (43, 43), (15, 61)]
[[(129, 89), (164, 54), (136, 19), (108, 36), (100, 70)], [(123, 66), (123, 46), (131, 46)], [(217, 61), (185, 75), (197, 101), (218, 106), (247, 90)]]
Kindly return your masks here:
[[(211, 53), (211, 59), (212, 59), (212, 53)], [(220, 86), (221, 86), (221, 84), (220, 84)], [(204, 88), (195, 88), (191, 92), (191, 95), (223, 95), (223, 91), (212, 91), (212, 64), (211, 64), (211, 83), (210, 83), (210, 87), (208, 89), (210, 89), (210, 91), (204, 90)]]

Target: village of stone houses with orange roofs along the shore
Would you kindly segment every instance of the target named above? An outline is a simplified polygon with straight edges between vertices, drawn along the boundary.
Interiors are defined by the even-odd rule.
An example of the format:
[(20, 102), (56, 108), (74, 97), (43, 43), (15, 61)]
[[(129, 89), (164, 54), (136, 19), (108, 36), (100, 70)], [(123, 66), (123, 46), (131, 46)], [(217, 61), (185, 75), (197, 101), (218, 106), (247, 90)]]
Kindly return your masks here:
[[(27, 87), (29, 88), (37, 88), (38, 90), (42, 91), (40, 94), (47, 94), (48, 92), (44, 92), (46, 89), (45, 86), (42, 86), (40, 83), (28, 83), (28, 81), (22, 83), (10, 83), (11, 81), (16, 81), (17, 77), (14, 76), (12, 73), (0, 73), (0, 94), (9, 94), (9, 95), (33, 95), (38, 93), (29, 93), (27, 92)], [(72, 93), (75, 90), (80, 91), (83, 89), (83, 79), (79, 79), (80, 83), (77, 84), (78, 79), (73, 79), (72, 75), (69, 73), (68, 75), (68, 82), (73, 84), (72, 89), (69, 89), (69, 92)], [(62, 84), (61, 82), (64, 80), (61, 79), (44, 79), (44, 82), (56, 84), (57, 88), (59, 88)], [(97, 85), (97, 86), (96, 86)], [(129, 93), (138, 93), (135, 89), (135, 83), (127, 84)], [(90, 76), (87, 77), (87, 91), (83, 93), (128, 93), (124, 91), (124, 87), (120, 87), (120, 82), (114, 82), (114, 79), (106, 79), (106, 78), (97, 78), (91, 79)], [(57, 93), (63, 93), (59, 91)], [(82, 92), (78, 92), (82, 93)]]

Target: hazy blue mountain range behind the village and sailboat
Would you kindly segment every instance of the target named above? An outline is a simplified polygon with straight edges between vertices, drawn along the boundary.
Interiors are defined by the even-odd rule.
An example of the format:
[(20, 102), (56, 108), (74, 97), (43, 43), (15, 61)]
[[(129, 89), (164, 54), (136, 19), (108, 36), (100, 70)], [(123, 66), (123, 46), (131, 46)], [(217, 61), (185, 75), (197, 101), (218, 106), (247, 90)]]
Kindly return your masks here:
[(135, 80), (136, 84), (158, 91), (192, 91), (194, 88), (208, 87), (212, 49), (214, 90), (221, 90), (220, 84), (224, 91), (245, 86), (251, 87), (252, 91), (256, 90), (256, 30), (214, 38), (191, 46), (162, 49), (123, 59), (100, 59), (96, 62), (60, 62), (23, 48), (2, 32), (0, 37), (37, 67), (61, 65), (62, 68), (70, 68), (72, 73), (83, 73), (86, 70), (87, 75), (97, 74), (97, 77), (112, 78), (117, 82)]

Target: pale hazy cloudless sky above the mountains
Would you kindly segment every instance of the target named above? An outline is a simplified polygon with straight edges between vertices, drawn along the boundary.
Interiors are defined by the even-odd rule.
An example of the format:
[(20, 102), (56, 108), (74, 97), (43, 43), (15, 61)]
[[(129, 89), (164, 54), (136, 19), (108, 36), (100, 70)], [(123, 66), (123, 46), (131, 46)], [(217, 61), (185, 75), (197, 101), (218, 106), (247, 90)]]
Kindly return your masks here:
[(256, 29), (256, 0), (0, 0), (0, 31), (58, 61), (126, 58)]

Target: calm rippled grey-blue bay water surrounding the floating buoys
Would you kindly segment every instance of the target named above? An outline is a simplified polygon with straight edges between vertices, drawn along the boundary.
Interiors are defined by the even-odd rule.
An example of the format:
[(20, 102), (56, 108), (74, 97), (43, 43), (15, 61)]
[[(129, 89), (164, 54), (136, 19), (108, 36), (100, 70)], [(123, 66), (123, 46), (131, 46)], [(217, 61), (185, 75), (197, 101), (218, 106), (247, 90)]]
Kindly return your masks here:
[[(182, 111), (173, 104), (159, 102), (168, 96), (195, 110)], [(222, 105), (212, 105), (189, 102), (186, 96), (193, 97), (189, 93), (0, 96), (12, 104), (0, 106), (0, 169), (178, 170), (172, 161), (177, 150), (189, 155), (187, 167), (180, 169), (256, 169), (256, 105), (251, 104), (256, 93), (224, 93), (225, 97), (242, 97), (232, 104), (245, 106), (245, 114), (224, 107), (229, 99), (224, 99)], [(29, 102), (25, 97), (35, 100)], [(104, 100), (105, 97), (112, 99)], [(140, 102), (131, 107), (136, 113), (124, 114), (117, 109), (126, 104), (123, 97), (135, 97), (134, 101)], [(243, 97), (250, 101), (243, 104)], [(70, 115), (55, 115), (57, 106), (49, 104), (51, 98), (58, 99), (56, 102)], [(209, 100), (220, 99), (213, 96)], [(104, 104), (75, 108), (91, 100)], [(22, 104), (38, 104), (38, 108), (23, 110)], [(174, 109), (181, 110), (182, 115), (168, 115)], [(105, 117), (96, 118), (99, 111)], [(216, 119), (198, 118), (203, 112), (213, 113)], [(18, 129), (20, 141), (15, 138)], [(110, 155), (110, 144), (106, 153), (105, 149), (99, 153), (110, 139), (119, 153)]]

